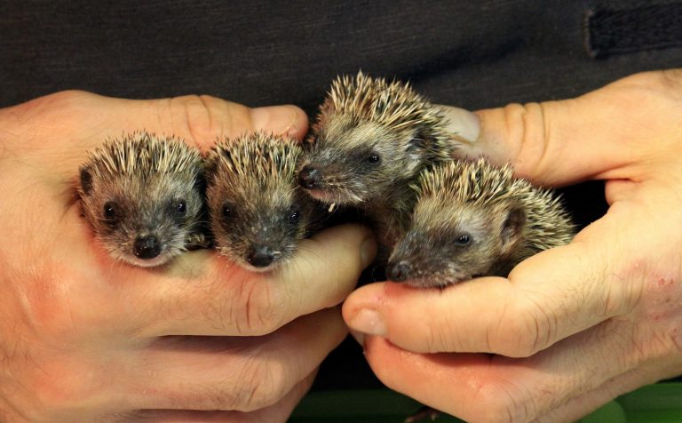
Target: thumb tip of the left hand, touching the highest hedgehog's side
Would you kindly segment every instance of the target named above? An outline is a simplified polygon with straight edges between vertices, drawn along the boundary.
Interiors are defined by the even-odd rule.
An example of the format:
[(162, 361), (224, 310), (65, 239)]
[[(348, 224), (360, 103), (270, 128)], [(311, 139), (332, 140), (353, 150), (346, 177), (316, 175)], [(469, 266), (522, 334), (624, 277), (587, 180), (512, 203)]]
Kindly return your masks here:
[(251, 123), (256, 130), (286, 134), (303, 139), (308, 131), (308, 118), (305, 112), (290, 104), (267, 106), (250, 110)]

